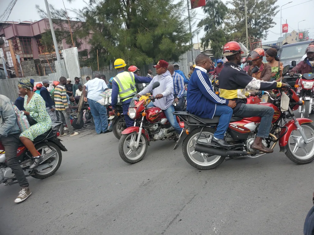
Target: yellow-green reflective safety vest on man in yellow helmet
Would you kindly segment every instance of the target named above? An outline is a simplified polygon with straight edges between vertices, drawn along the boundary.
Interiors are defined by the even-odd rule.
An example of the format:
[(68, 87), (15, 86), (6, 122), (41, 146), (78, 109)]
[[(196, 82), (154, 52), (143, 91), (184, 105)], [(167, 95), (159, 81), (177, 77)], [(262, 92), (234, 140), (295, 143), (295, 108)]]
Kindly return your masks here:
[[(122, 72), (119, 73), (117, 76), (113, 78), (114, 81), (119, 86), (119, 96), (123, 101), (126, 101), (130, 97), (134, 97), (136, 94), (136, 87), (135, 87), (135, 82), (134, 82), (134, 74), (131, 72)], [(133, 91), (130, 87), (130, 84), (133, 85)]]

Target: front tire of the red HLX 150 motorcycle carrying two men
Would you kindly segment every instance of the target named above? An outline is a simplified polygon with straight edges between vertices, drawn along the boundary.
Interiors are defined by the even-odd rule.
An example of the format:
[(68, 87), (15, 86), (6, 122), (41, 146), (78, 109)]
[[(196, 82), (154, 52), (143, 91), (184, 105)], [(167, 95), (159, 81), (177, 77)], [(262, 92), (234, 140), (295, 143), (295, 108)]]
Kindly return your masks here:
[[(304, 130), (306, 130), (306, 129), (310, 130), (311, 133), (313, 134), (312, 136), (314, 136), (314, 125), (313, 124), (311, 124), (311, 123), (303, 123), (303, 124), (301, 124), (301, 127)], [(291, 137), (289, 138), (288, 148), (287, 148), (287, 151), (285, 152), (285, 154), (291, 161), (293, 161), (296, 164), (308, 164), (308, 163), (310, 163), (310, 162), (312, 162), (314, 160), (314, 151), (313, 151), (314, 150), (314, 146), (312, 147), (312, 150), (310, 151), (310, 155), (307, 158), (304, 158), (302, 156), (302, 158), (303, 158), (302, 159), (302, 158), (296, 156), (296, 154), (294, 153), (294, 149), (290, 148), (290, 139), (293, 139), (293, 138), (291, 138)], [(309, 144), (314, 145), (314, 140), (312, 140)], [(295, 145), (292, 145), (292, 146), (295, 146)]]

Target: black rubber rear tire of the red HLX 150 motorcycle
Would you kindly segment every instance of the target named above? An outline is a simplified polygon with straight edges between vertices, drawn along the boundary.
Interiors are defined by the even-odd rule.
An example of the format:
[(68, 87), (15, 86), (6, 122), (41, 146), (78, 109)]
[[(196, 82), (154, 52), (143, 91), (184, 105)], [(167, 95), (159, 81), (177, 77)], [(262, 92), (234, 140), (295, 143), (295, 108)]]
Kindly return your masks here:
[[(194, 129), (184, 140), (183, 140), (183, 143), (182, 143), (182, 153), (183, 153), (183, 156), (184, 158), (187, 160), (187, 162), (199, 169), (199, 170), (211, 170), (211, 169), (214, 169), (216, 167), (218, 167), (221, 163), (223, 163), (223, 161), (225, 160), (225, 157), (223, 156), (217, 156), (216, 160), (214, 161), (211, 161), (213, 162), (213, 164), (210, 164), (210, 165), (206, 165), (206, 164), (201, 164), (201, 163), (197, 163), (197, 160), (195, 159), (191, 159), (190, 158), (190, 154), (188, 153), (190, 147), (192, 146), (188, 146), (190, 145), (190, 143), (192, 143), (192, 139), (193, 138), (197, 138), (200, 131), (202, 130), (202, 128), (196, 128)], [(209, 127), (205, 127), (202, 131), (202, 133), (211, 133), (212, 135), (214, 135), (214, 132), (215, 132), (215, 129), (214, 128), (209, 128)]]

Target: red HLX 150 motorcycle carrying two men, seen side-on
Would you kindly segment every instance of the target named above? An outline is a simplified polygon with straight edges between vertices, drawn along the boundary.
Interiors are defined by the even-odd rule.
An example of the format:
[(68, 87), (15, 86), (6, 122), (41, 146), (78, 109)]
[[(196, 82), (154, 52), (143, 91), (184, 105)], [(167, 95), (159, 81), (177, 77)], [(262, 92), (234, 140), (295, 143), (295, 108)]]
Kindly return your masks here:
[[(270, 128), (269, 137), (263, 139), (262, 143), (273, 149), (279, 142), (280, 152), (297, 164), (307, 164), (314, 159), (314, 125), (312, 120), (307, 118), (295, 118), (293, 111), (302, 106), (304, 101), (299, 100), (294, 89), (279, 89), (277, 95), (270, 95), (271, 103), (261, 102), (257, 105), (272, 107), (274, 115)], [(289, 97), (287, 111), (281, 111), (281, 98), (283, 95)], [(241, 156), (256, 158), (263, 154), (251, 149), (261, 122), (260, 117), (232, 117), (228, 130), (225, 133), (225, 140), (233, 147), (223, 149), (211, 143), (215, 128), (219, 123), (219, 117), (199, 118), (188, 112), (174, 112), (184, 121), (180, 126), (184, 129), (174, 149), (182, 144), (184, 158), (193, 167), (200, 170), (209, 170), (218, 167), (224, 160), (231, 160)], [(287, 121), (290, 116), (292, 120)], [(227, 159), (226, 159), (227, 158)]]

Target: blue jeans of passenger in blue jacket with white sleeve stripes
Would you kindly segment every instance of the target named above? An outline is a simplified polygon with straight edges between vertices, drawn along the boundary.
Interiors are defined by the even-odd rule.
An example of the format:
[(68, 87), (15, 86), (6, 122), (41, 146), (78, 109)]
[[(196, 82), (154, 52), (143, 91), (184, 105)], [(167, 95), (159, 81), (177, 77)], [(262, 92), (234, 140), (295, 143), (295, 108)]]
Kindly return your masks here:
[(214, 116), (220, 116), (218, 126), (214, 133), (214, 137), (216, 137), (217, 139), (224, 139), (224, 134), (228, 129), (230, 119), (232, 117), (232, 108), (227, 105), (216, 104)]

